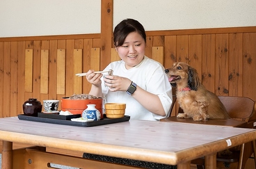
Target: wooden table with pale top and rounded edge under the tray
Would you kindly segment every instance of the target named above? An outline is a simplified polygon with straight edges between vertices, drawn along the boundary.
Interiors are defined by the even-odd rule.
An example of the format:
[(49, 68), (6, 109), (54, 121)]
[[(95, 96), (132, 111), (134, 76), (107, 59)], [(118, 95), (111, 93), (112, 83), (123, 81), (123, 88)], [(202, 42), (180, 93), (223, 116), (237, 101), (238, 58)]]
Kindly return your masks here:
[(13, 150), (13, 142), (177, 165), (183, 169), (190, 168), (190, 161), (201, 156), (211, 164), (209, 168), (216, 168), (216, 152), (256, 139), (254, 129), (180, 122), (129, 120), (97, 127), (72, 127), (13, 117), (0, 118), (0, 124), (2, 169), (46, 168), (49, 163), (77, 168), (133, 168), (35, 149)]

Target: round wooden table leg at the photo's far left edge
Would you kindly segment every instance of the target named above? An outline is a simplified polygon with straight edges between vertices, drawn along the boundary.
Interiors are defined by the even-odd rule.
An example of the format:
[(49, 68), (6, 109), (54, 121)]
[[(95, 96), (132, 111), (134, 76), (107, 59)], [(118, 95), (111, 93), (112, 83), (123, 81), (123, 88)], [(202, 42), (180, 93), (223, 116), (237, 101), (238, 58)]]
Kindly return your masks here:
[(3, 141), (2, 169), (13, 169), (13, 142)]

